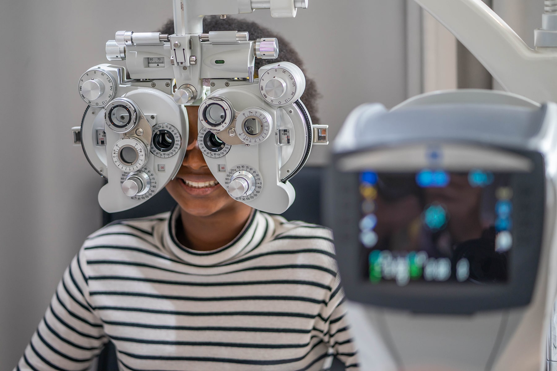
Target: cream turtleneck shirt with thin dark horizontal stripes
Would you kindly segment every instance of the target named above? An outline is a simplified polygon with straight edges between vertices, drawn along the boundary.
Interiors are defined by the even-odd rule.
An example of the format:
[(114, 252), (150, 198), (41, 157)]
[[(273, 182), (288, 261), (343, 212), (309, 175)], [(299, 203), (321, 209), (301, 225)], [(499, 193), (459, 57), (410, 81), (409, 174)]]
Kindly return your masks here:
[(109, 340), (120, 370), (358, 369), (329, 229), (255, 211), (194, 251), (179, 214), (90, 235), (15, 370), (85, 370)]

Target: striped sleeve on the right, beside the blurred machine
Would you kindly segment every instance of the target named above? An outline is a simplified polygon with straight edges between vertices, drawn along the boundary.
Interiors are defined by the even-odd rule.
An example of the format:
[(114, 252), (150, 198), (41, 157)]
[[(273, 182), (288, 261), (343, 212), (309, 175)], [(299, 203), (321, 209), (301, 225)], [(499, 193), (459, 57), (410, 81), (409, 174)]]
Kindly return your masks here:
[(326, 319), (325, 340), (328, 340), (335, 357), (344, 363), (345, 369), (356, 371), (359, 370), (358, 354), (346, 321), (344, 290), (338, 274), (331, 288), (331, 295), (321, 313)]

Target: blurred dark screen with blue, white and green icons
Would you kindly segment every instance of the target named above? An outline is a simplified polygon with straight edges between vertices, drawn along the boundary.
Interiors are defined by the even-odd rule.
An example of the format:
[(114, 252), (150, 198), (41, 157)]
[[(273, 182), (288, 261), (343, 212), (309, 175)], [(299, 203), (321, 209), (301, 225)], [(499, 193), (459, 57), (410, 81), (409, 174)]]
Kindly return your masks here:
[(512, 250), (511, 173), (360, 173), (364, 277), (505, 283)]

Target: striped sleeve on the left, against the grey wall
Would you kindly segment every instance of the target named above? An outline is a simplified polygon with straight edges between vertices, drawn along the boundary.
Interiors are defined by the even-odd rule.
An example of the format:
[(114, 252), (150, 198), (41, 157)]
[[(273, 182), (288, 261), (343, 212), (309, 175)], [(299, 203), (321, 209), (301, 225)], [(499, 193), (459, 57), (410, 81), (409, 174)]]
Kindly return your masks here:
[(86, 370), (108, 341), (91, 308), (84, 250), (62, 276), (14, 371)]

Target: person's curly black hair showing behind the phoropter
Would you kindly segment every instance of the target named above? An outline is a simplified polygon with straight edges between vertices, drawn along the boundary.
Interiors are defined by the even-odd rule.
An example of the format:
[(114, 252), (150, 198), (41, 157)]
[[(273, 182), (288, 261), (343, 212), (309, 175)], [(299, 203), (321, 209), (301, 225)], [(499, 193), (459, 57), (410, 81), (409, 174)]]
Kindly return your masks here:
[[(252, 40), (263, 37), (276, 37), (278, 39), (278, 46), (280, 47), (280, 53), (277, 61), (294, 63), (296, 66), (300, 67), (302, 71), (304, 71), (304, 62), (302, 62), (300, 55), (296, 52), (296, 50), (294, 50), (292, 45), (286, 41), (285, 38), (277, 36), (275, 32), (266, 27), (262, 27), (255, 22), (231, 17), (221, 19), (218, 16), (208, 16), (203, 18), (203, 32), (209, 31), (247, 31), (250, 33), (250, 39)], [(167, 23), (164, 24), (160, 32), (173, 34), (173, 19), (169, 19)], [(275, 62), (268, 62), (268, 60), (256, 58), (255, 71), (259, 70), (261, 66), (268, 63)], [(317, 117), (317, 98), (319, 98), (319, 96), (320, 94), (317, 91), (315, 81), (306, 76), (306, 89), (300, 99), (304, 102), (307, 112), (311, 116), (311, 121), (315, 124), (319, 123), (319, 117)]]

